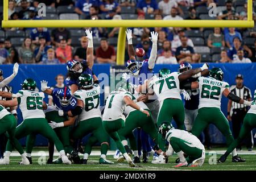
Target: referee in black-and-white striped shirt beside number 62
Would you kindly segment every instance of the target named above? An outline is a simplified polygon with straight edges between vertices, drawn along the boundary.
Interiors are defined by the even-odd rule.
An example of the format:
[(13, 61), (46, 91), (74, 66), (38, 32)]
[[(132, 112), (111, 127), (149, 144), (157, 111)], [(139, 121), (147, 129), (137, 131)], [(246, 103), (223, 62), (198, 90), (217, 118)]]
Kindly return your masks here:
[[(243, 85), (243, 75), (238, 74), (236, 76), (236, 85), (230, 86), (230, 92), (243, 100), (251, 101), (251, 90)], [(232, 110), (232, 111), (231, 111)], [(243, 118), (245, 117), (248, 107), (243, 104), (237, 104), (229, 100), (228, 102), (228, 120), (232, 121), (233, 134), (236, 139), (240, 133)], [(253, 149), (253, 134), (246, 138), (246, 147), (248, 151)], [(241, 143), (237, 146), (237, 150), (241, 150)]]

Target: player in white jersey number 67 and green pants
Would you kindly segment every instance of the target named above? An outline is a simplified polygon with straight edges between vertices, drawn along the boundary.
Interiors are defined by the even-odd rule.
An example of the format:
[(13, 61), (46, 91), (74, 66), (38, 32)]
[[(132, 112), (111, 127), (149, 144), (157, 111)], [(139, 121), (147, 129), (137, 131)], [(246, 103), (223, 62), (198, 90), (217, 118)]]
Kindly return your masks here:
[[(74, 96), (77, 99), (77, 106), (81, 107), (82, 110), (80, 110), (79, 113), (72, 113), (72, 111), (68, 111), (64, 114), (79, 115), (79, 123), (71, 131), (71, 138), (79, 139), (85, 137), (89, 133), (93, 134), (93, 136), (89, 137), (89, 142), (85, 146), (85, 154), (82, 159), (83, 164), (87, 164), (88, 157), (92, 151), (92, 144), (95, 144), (97, 141), (101, 143), (100, 164), (113, 164), (113, 162), (106, 159), (109, 147), (109, 135), (102, 126), (100, 86), (93, 84), (93, 77), (88, 74), (82, 74), (79, 77), (78, 84), (80, 90), (77, 90), (74, 93)], [(94, 138), (97, 140), (95, 141)]]

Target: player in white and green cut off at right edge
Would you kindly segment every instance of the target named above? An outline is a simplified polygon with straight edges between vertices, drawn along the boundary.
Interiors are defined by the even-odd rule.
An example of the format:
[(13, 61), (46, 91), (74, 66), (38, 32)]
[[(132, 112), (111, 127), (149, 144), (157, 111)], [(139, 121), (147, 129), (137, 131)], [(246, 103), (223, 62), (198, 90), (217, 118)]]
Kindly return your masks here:
[(252, 129), (256, 127), (256, 90), (254, 91), (254, 100), (251, 103), (251, 108), (245, 115), (245, 118), (243, 119), (243, 125), (241, 127), (240, 133), (238, 135), (238, 138), (235, 139), (229, 146), (228, 150), (225, 152), (224, 155), (221, 156), (220, 159), (218, 159), (219, 163), (224, 163), (226, 161), (226, 158), (228, 155), (236, 149), (238, 144), (242, 142), (244, 138), (251, 132)]

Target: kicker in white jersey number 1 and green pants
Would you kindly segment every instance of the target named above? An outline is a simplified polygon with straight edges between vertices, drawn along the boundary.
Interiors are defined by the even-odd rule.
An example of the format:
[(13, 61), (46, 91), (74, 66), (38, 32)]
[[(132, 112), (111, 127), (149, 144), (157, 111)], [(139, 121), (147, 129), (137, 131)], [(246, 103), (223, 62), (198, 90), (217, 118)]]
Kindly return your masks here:
[[(144, 96), (137, 98), (137, 101), (142, 101), (143, 97)], [(123, 147), (123, 144), (117, 133), (119, 129), (125, 126), (125, 116), (123, 115), (125, 106), (131, 106), (134, 109), (146, 114), (147, 117), (150, 117), (150, 113), (135, 104), (133, 100), (136, 99), (130, 92), (127, 92), (126, 89), (119, 87), (117, 91), (113, 91), (109, 94), (109, 97), (106, 100), (106, 106), (103, 114), (104, 129), (110, 135), (110, 137), (114, 139), (118, 150), (122, 152), (130, 167), (135, 167), (135, 164), (125, 151), (125, 148)]]

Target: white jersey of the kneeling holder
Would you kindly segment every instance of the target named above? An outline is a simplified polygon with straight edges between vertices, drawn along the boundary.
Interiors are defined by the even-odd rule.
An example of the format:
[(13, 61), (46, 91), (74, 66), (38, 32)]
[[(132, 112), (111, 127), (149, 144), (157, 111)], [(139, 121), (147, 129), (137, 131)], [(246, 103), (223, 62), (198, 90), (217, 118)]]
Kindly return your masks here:
[(204, 145), (200, 142), (200, 140), (188, 131), (171, 129), (166, 134), (166, 140), (169, 142), (172, 137), (183, 140), (184, 143), (187, 144), (189, 147), (196, 147), (201, 150), (205, 150)]

